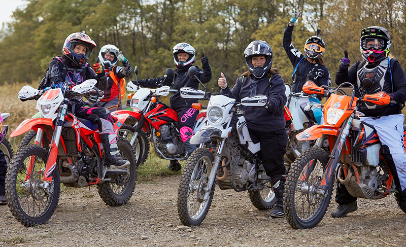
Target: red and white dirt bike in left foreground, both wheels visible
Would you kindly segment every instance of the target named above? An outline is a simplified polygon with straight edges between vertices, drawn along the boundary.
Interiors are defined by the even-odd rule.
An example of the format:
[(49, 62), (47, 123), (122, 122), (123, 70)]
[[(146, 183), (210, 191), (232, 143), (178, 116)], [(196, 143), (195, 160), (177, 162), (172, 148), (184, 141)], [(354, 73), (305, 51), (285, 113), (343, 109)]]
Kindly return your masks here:
[[(126, 203), (136, 186), (137, 163), (131, 145), (118, 137), (121, 155), (130, 162), (125, 169), (107, 169), (105, 151), (100, 143), (97, 125), (66, 113), (70, 98), (99, 96), (103, 92), (94, 87), (96, 80), (80, 85), (40, 92), (24, 86), (18, 93), (23, 101), (36, 99), (41, 118), (24, 120), (11, 136), (29, 130), (37, 132), (34, 145), (21, 147), (14, 155), (6, 176), (6, 195), (13, 216), (24, 226), (46, 223), (59, 201), (60, 183), (67, 187), (96, 185), (106, 204), (119, 206)], [(114, 131), (128, 115), (116, 115)], [(43, 135), (50, 140), (49, 151), (40, 144)]]

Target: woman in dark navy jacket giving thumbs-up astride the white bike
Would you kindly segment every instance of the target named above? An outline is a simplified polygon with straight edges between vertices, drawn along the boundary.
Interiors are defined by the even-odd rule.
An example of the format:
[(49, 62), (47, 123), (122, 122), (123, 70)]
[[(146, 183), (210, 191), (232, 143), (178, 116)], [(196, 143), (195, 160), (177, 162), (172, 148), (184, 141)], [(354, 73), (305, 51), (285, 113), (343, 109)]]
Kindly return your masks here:
[(276, 68), (271, 68), (273, 55), (272, 48), (265, 41), (251, 42), (244, 51), (249, 70), (236, 80), (231, 90), (223, 73), (218, 79), (218, 85), (221, 87), (221, 94), (227, 94), (237, 101), (257, 94), (268, 96), (266, 108), (245, 107), (244, 117), (251, 138), (256, 143), (260, 142), (262, 164), (275, 192), (276, 204), (270, 216), (284, 217), (286, 169), (283, 156), (287, 145), (284, 105), (287, 98), (282, 77)]

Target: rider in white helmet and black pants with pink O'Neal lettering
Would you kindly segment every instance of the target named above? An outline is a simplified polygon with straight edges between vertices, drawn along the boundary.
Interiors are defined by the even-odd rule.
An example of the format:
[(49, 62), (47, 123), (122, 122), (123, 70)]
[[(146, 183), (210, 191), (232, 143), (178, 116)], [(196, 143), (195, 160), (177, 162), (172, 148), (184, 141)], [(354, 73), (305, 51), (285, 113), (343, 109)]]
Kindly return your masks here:
[[(141, 85), (144, 87), (156, 88), (158, 86), (172, 86), (172, 89), (177, 89), (178, 92), (174, 93), (170, 98), (171, 108), (178, 113), (178, 124), (180, 128), (182, 142), (185, 144), (185, 149), (190, 155), (196, 146), (189, 143), (189, 139), (193, 135), (193, 125), (196, 121), (197, 114), (199, 113), (196, 109), (191, 108), (192, 103), (197, 103), (197, 100), (183, 100), (181, 98), (180, 89), (182, 87), (191, 87), (198, 89), (199, 83), (197, 80), (191, 79), (188, 76), (188, 69), (192, 66), (192, 63), (196, 61), (194, 48), (187, 43), (179, 43), (174, 46), (174, 61), (176, 69), (174, 70), (173, 78), (157, 77), (153, 79), (144, 79), (133, 81), (136, 85)], [(210, 69), (209, 59), (202, 55), (201, 57), (201, 67), (197, 68), (197, 77), (202, 83), (208, 83), (212, 79), (212, 70)], [(163, 83), (162, 83), (163, 82)], [(161, 85), (162, 84), (162, 85)], [(177, 160), (171, 160), (169, 167), (171, 170), (180, 170), (182, 168), (181, 164)]]

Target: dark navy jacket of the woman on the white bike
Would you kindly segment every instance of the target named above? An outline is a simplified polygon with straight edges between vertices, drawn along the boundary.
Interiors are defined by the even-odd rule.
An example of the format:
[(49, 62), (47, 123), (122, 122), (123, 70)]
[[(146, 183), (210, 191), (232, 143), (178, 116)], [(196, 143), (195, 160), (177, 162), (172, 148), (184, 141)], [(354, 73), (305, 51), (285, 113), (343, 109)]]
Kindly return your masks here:
[[(243, 80), (244, 78), (244, 80)], [(252, 85), (257, 82), (256, 94), (267, 95), (269, 105), (267, 109), (244, 107), (244, 117), (247, 120), (249, 129), (258, 131), (277, 131), (285, 128), (284, 105), (287, 101), (285, 95), (285, 85), (280, 75), (276, 74), (272, 78), (263, 77), (257, 79), (253, 76), (239, 77), (234, 87), (221, 89), (221, 94), (228, 94), (229, 97), (240, 101), (244, 97), (251, 95)]]

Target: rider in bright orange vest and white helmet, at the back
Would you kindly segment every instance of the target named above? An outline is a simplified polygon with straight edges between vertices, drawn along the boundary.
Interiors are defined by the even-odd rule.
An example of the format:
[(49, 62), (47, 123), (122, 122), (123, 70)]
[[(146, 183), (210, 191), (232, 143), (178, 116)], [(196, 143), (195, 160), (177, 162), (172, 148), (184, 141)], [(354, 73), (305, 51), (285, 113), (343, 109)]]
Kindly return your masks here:
[[(97, 58), (103, 65), (108, 83), (107, 89), (104, 91), (104, 98), (100, 100), (98, 106), (104, 107), (111, 112), (120, 110), (125, 89), (124, 78), (131, 74), (131, 65), (114, 45), (101, 47)], [(122, 67), (116, 66), (118, 61), (121, 61)]]

